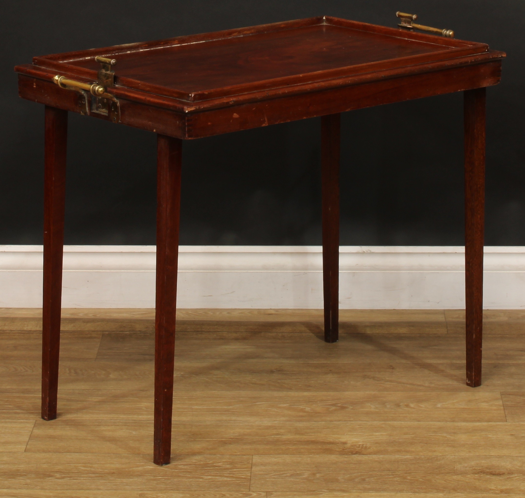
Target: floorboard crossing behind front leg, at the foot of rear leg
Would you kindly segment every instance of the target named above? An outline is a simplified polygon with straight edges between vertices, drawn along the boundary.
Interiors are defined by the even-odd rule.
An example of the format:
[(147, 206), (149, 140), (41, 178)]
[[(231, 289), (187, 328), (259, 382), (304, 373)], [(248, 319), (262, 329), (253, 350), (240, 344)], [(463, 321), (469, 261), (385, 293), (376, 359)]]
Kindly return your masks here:
[[(179, 334), (175, 361), (281, 361), (281, 362), (463, 362), (465, 339), (459, 335), (348, 334), (338, 343), (328, 344), (319, 333), (243, 333), (242, 337), (217, 338), (209, 333)], [(276, 343), (281, 345), (276, 348)], [(103, 333), (97, 360), (151, 361), (154, 335), (144, 333)], [(485, 361), (514, 363), (525, 361), (525, 335), (486, 338)]]

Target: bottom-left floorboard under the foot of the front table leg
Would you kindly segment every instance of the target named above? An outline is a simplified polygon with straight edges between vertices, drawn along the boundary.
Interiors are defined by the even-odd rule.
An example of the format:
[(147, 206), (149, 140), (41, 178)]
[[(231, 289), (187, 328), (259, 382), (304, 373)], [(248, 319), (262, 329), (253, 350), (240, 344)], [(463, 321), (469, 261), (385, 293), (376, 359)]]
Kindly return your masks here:
[(248, 491), (251, 457), (173, 455), (158, 466), (151, 454), (0, 453), (6, 489), (113, 491)]

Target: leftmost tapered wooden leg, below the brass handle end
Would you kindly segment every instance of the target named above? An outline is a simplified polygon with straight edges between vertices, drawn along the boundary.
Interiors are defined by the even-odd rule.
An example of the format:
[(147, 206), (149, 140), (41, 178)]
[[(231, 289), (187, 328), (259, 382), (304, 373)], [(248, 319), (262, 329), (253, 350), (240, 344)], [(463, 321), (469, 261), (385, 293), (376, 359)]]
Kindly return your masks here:
[(42, 418), (53, 420), (57, 418), (66, 199), (67, 111), (46, 106), (45, 112)]

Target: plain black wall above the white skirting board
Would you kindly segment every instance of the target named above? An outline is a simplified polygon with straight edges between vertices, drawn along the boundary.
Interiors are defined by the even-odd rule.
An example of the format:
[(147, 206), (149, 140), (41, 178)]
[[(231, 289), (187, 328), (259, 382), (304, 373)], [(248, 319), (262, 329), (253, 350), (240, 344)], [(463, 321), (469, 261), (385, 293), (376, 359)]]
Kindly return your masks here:
[[(523, 0), (54, 0), (2, 3), (0, 244), (41, 244), (44, 108), (18, 98), (35, 55), (331, 15), (395, 12), (505, 50), (488, 89), (487, 245), (525, 245)], [(401, 144), (410, 144), (409, 152)], [(342, 118), (341, 244), (463, 245), (463, 97)], [(156, 139), (70, 113), (67, 244), (155, 243)], [(182, 244), (320, 244), (320, 121), (187, 141)]]

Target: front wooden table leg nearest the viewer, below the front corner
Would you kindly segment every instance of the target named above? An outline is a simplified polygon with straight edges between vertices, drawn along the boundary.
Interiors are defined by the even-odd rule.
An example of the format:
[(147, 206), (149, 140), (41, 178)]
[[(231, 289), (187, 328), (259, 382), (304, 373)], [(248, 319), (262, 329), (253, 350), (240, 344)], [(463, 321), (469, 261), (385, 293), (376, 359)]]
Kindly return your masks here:
[(157, 138), (157, 267), (153, 461), (170, 463), (182, 140)]

